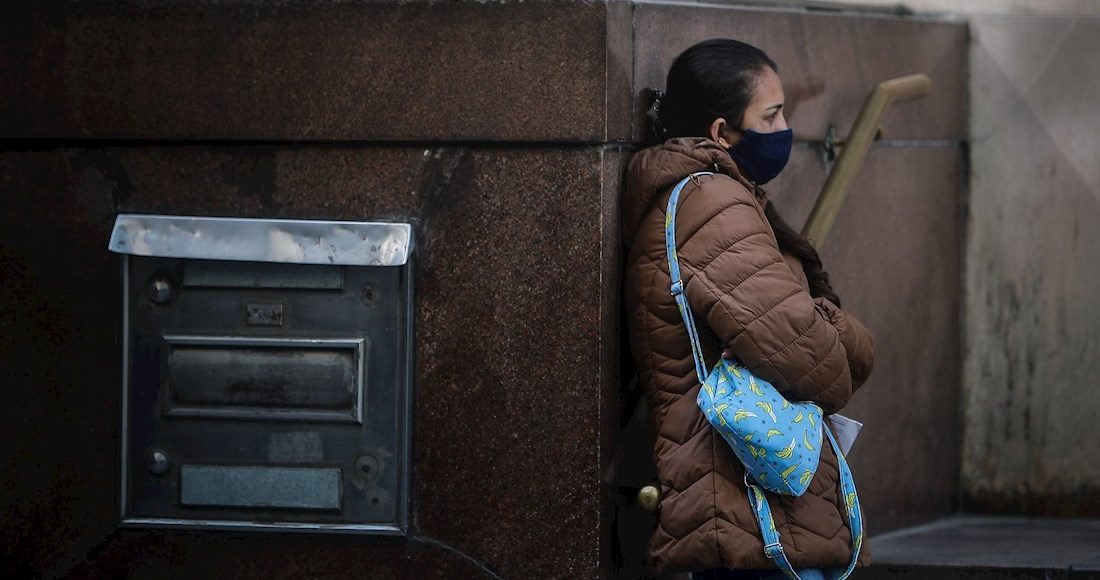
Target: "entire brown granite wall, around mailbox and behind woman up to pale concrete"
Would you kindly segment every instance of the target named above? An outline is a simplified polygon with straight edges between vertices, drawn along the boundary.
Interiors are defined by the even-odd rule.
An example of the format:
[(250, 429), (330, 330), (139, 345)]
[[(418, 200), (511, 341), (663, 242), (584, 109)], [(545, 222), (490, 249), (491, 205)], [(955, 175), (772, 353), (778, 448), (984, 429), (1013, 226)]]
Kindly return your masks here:
[[(878, 80), (936, 83), (889, 117), (824, 260), (879, 337), (848, 409), (867, 424), (851, 459), (870, 525), (957, 507), (963, 25), (563, 1), (7, 17), (0, 70), (19, 81), (0, 87), (6, 568), (624, 573), (646, 516), (617, 513), (605, 483), (619, 444), (618, 183), (641, 89), (714, 35), (780, 64), (799, 144), (770, 189), (795, 223), (824, 180), (827, 127), (843, 133)], [(120, 288), (106, 241), (119, 211), (417, 222), (409, 538), (116, 529)], [(616, 517), (638, 516), (618, 535)]]

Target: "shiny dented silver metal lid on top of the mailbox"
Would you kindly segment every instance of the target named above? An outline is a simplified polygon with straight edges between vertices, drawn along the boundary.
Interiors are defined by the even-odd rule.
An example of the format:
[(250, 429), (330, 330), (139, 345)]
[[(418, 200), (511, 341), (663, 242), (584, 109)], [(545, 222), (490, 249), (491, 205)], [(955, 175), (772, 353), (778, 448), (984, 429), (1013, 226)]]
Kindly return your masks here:
[(409, 223), (120, 214), (112, 252), (154, 258), (400, 266)]

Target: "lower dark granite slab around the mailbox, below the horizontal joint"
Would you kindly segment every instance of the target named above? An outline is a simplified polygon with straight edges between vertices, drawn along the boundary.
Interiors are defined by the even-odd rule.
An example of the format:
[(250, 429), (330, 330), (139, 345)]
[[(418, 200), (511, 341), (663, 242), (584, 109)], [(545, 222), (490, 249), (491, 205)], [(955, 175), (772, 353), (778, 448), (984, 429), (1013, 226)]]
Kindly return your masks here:
[[(184, 576), (316, 576), (362, 559), (367, 578), (592, 572), (601, 395), (617, 381), (607, 362), (617, 337), (602, 330), (613, 297), (600, 293), (614, 248), (604, 165), (617, 157), (490, 145), (4, 154), (6, 264), (25, 269), (7, 278), (4, 304), (30, 327), (6, 331), (18, 403), (6, 423), (24, 426), (6, 437), (4, 544), (47, 574), (75, 565), (78, 576), (155, 576), (170, 565)], [(105, 244), (114, 211), (416, 219), (411, 541), (112, 533), (121, 289)]]

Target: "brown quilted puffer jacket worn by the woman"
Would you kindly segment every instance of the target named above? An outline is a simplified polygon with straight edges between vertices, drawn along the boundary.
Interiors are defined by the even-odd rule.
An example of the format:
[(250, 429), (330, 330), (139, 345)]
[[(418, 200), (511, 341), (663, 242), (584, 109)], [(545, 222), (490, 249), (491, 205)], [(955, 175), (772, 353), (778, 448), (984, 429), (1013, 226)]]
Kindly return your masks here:
[[(658, 572), (774, 566), (728, 444), (695, 403), (691, 346), (670, 292), (664, 212), (681, 193), (676, 243), (685, 295), (695, 311), (707, 364), (723, 347), (792, 401), (843, 408), (872, 365), (872, 338), (855, 317), (809, 294), (798, 259), (781, 255), (765, 217), (766, 194), (741, 176), (717, 143), (674, 139), (637, 153), (624, 199), (627, 324), (657, 431), (659, 523), (649, 543)], [(836, 456), (824, 446), (806, 493), (769, 494), (788, 558), (798, 568), (846, 566), (850, 533), (837, 485)], [(858, 474), (857, 474), (858, 483)], [(864, 543), (860, 561), (868, 561)]]

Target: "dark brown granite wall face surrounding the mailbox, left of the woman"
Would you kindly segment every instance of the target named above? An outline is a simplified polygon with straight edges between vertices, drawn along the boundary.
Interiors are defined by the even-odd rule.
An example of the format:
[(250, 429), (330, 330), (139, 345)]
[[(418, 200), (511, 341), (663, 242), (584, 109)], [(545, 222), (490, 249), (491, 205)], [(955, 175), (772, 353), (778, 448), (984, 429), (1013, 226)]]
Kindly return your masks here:
[[(8, 14), (4, 567), (604, 576), (630, 10), (242, 0)], [(415, 222), (408, 538), (114, 529), (120, 282), (106, 242), (124, 211)]]

